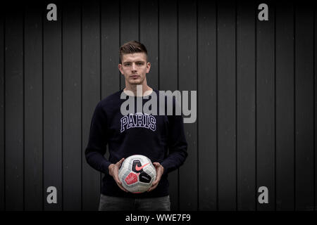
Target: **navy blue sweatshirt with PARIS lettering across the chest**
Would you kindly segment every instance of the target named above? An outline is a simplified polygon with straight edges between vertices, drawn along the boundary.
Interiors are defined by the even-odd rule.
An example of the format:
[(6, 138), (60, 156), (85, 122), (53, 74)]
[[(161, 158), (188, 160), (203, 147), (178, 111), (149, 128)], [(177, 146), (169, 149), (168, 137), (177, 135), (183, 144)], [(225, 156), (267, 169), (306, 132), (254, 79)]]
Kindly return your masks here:
[[(157, 115), (137, 111), (137, 98), (142, 105), (149, 101), (153, 94), (157, 96)], [(90, 125), (89, 141), (85, 150), (88, 164), (104, 173), (101, 193), (104, 195), (153, 198), (168, 195), (168, 173), (178, 169), (187, 158), (187, 142), (184, 133), (182, 115), (175, 115), (173, 98), (173, 115), (167, 115), (165, 98), (165, 114), (159, 115), (159, 91), (153, 90), (148, 96), (132, 97), (135, 101), (135, 113), (123, 115), (121, 104), (126, 99), (120, 99), (123, 89), (101, 100), (94, 110)], [(127, 96), (125, 93), (123, 95)], [(130, 96), (127, 96), (127, 99)], [(175, 106), (176, 105), (176, 106)], [(149, 108), (151, 110), (151, 107)], [(108, 144), (109, 159), (104, 158)], [(108, 173), (108, 166), (130, 155), (145, 155), (151, 162), (159, 162), (164, 168), (159, 185), (145, 193), (126, 193), (122, 191), (113, 177)]]

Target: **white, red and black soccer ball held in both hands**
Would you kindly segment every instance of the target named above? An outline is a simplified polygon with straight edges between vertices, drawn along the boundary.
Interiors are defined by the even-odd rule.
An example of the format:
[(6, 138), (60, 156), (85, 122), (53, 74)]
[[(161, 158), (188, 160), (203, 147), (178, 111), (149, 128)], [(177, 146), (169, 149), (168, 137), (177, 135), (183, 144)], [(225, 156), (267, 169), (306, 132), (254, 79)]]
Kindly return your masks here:
[(118, 176), (127, 191), (142, 193), (155, 181), (156, 169), (146, 156), (131, 155), (123, 161)]

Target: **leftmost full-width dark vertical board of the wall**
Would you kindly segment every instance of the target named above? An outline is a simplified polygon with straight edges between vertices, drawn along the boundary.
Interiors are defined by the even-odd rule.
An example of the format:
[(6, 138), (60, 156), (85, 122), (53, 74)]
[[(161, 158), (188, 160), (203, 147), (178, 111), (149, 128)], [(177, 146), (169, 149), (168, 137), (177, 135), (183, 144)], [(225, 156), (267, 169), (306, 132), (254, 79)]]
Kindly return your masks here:
[(11, 7), (5, 21), (5, 202), (23, 210), (23, 13)]

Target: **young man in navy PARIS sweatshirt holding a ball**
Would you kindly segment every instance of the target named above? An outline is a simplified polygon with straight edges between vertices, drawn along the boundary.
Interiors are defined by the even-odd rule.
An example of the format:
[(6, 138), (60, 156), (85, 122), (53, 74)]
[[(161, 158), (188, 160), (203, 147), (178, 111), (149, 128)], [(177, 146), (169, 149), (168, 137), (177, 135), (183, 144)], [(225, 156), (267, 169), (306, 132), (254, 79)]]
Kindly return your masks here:
[[(120, 46), (118, 68), (125, 77), (125, 89), (101, 100), (94, 110), (90, 127), (89, 141), (85, 151), (88, 164), (104, 173), (99, 210), (170, 210), (168, 195), (168, 173), (178, 169), (187, 158), (187, 142), (184, 134), (182, 115), (132, 114), (129, 121), (121, 120), (120, 111), (126, 99), (137, 98), (142, 105), (154, 94), (159, 102), (159, 91), (147, 85), (146, 74), (151, 64), (147, 60), (147, 49), (137, 41), (129, 41)], [(142, 85), (142, 94), (137, 95), (137, 86)], [(135, 104), (137, 105), (137, 104)], [(166, 105), (165, 105), (166, 107)], [(137, 109), (137, 107), (135, 107)], [(173, 101), (175, 111), (175, 101)], [(141, 117), (140, 117), (141, 115)], [(125, 121), (125, 122), (123, 122)], [(137, 126), (135, 122), (141, 122)], [(149, 129), (151, 128), (151, 129)], [(108, 144), (109, 159), (104, 158)], [(156, 180), (145, 193), (130, 193), (118, 179), (118, 169), (130, 155), (145, 155), (156, 167)]]

